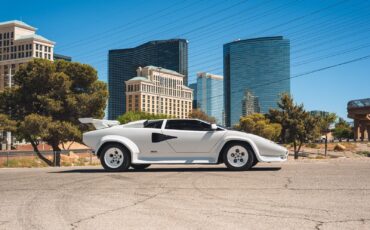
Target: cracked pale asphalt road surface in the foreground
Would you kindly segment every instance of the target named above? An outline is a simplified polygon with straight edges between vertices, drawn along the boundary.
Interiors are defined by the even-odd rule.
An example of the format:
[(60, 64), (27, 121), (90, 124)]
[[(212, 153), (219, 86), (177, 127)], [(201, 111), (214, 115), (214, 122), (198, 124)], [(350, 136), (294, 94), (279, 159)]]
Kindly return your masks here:
[(370, 160), (0, 169), (0, 229), (370, 229)]

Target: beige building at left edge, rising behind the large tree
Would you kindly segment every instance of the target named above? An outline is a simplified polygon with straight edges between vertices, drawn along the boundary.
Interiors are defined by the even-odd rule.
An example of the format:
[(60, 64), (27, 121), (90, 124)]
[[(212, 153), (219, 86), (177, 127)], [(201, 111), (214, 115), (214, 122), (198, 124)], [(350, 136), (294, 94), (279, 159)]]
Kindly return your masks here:
[(21, 21), (0, 23), (0, 91), (14, 83), (12, 75), (33, 58), (54, 60), (54, 42)]

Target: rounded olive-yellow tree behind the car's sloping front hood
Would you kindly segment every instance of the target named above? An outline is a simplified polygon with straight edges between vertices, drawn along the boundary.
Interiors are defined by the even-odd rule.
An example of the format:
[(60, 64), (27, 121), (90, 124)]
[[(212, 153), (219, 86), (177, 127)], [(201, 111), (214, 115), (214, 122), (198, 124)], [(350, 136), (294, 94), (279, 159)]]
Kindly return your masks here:
[(260, 113), (241, 117), (239, 120), (239, 125), (237, 125), (236, 128), (273, 141), (278, 141), (281, 134), (281, 125), (277, 123), (271, 123), (269, 119)]

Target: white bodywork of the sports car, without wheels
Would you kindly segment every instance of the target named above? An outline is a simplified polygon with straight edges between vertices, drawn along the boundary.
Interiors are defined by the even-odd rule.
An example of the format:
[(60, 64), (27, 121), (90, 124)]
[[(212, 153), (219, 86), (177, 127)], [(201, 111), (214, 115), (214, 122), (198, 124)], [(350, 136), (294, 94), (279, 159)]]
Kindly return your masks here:
[[(247, 143), (258, 162), (287, 160), (288, 150), (265, 138), (215, 127), (206, 122), (204, 123), (210, 125), (213, 130), (166, 128), (166, 124), (173, 120), (180, 119), (157, 120), (163, 121), (160, 128), (144, 128), (146, 121), (143, 120), (125, 125), (105, 125), (102, 128), (101, 124), (109, 122), (101, 121), (101, 124), (96, 124), (99, 120), (94, 120), (94, 125), (100, 129), (84, 133), (83, 142), (93, 149), (98, 157), (104, 145), (119, 143), (130, 151), (131, 164), (216, 164), (220, 163), (219, 156), (223, 147), (232, 141)], [(192, 121), (203, 122), (194, 119)], [(93, 122), (85, 120), (83, 123)]]

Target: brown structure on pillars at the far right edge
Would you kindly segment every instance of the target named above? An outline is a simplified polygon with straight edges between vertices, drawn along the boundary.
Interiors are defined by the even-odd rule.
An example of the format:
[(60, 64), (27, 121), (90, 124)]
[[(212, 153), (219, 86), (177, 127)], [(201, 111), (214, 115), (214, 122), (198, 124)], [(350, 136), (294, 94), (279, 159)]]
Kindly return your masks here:
[(354, 122), (355, 140), (370, 141), (370, 98), (349, 101), (347, 112)]

